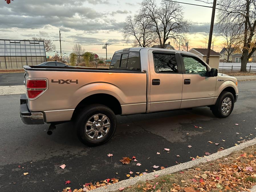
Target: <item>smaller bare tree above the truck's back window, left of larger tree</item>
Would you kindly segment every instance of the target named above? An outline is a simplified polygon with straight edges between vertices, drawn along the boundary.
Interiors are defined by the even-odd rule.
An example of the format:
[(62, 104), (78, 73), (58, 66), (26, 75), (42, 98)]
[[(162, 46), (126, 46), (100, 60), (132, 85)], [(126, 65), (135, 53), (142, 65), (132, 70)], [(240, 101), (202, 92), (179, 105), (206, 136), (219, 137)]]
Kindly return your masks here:
[(141, 14), (128, 16), (123, 27), (123, 36), (128, 41), (134, 39), (134, 47), (151, 47), (157, 39), (151, 21)]

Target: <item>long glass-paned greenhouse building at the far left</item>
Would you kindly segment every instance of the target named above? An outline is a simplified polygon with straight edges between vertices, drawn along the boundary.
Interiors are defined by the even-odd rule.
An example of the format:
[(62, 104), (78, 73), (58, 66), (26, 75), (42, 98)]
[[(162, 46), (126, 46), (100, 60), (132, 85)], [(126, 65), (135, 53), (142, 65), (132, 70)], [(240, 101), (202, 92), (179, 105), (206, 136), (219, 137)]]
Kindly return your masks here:
[(43, 41), (0, 39), (0, 69), (46, 62)]

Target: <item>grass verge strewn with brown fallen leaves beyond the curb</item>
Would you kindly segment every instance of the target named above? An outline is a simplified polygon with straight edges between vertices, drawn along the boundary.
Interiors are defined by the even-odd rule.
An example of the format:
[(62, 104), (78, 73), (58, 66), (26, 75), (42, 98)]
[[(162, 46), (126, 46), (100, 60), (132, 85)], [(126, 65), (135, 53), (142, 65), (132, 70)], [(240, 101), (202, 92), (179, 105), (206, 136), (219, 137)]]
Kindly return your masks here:
[[(169, 181), (166, 176), (160, 180), (147, 181), (143, 184), (133, 186), (132, 189), (127, 188), (124, 191), (166, 191), (168, 186), (169, 192), (200, 192), (200, 191), (250, 191), (249, 189), (256, 184), (256, 152), (247, 155), (246, 153), (240, 154), (238, 157), (225, 158), (229, 161), (227, 163), (215, 162), (214, 169), (211, 171), (202, 171), (201, 168), (189, 169), (184, 173), (174, 173), (181, 175), (179, 180), (172, 181), (171, 178), (175, 176), (169, 175)], [(236, 158), (237, 157), (237, 158)], [(214, 165), (214, 164), (212, 164)], [(205, 170), (205, 169), (204, 169)], [(207, 170), (207, 169), (206, 169)], [(190, 172), (192, 171), (192, 172)], [(184, 180), (183, 180), (184, 178)], [(166, 180), (165, 180), (166, 179)], [(159, 185), (155, 185), (156, 181)]]

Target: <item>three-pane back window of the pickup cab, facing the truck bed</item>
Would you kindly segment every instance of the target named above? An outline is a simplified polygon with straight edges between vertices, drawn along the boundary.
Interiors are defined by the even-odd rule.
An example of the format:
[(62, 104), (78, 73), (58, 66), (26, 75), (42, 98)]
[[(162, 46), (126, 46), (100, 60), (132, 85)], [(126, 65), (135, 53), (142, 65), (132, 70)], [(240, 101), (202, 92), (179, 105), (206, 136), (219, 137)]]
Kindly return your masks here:
[(109, 68), (140, 71), (141, 62), (139, 52), (114, 54)]

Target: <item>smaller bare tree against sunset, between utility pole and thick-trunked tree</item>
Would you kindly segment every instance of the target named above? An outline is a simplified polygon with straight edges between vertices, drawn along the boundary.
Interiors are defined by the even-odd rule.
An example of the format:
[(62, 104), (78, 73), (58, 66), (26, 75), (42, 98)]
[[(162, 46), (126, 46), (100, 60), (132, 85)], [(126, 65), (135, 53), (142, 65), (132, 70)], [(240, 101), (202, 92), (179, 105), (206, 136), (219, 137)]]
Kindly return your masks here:
[(230, 56), (237, 53), (241, 46), (241, 28), (236, 23), (217, 23), (216, 30), (225, 39), (222, 45), (228, 62)]

